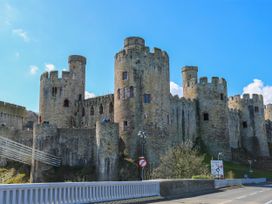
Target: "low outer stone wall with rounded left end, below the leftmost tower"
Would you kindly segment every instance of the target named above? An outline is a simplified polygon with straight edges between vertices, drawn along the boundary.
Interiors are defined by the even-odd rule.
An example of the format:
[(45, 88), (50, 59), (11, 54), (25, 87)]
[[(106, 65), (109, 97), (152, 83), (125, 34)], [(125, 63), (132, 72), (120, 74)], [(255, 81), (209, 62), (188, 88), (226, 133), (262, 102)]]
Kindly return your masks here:
[[(33, 148), (61, 158), (62, 165), (86, 166), (96, 163), (94, 129), (58, 129), (55, 125), (36, 125)], [(32, 182), (46, 181), (46, 171), (52, 168), (32, 161)]]

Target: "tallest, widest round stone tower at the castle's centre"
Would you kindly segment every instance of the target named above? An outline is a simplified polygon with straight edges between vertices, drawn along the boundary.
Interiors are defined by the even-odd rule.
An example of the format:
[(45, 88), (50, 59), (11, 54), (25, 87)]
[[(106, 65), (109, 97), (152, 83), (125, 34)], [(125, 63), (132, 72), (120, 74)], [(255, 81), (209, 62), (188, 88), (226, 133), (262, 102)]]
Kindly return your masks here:
[(146, 155), (158, 160), (156, 145), (169, 134), (169, 86), (167, 53), (158, 48), (150, 52), (142, 38), (126, 38), (115, 56), (114, 122), (131, 158), (140, 156), (141, 130), (147, 134)]

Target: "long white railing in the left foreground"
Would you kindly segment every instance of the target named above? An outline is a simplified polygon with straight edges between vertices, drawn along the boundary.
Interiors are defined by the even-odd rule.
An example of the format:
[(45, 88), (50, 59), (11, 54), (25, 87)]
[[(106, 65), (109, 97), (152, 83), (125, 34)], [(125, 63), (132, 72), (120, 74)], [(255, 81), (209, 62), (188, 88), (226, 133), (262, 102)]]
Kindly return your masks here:
[(158, 181), (0, 185), (1, 204), (78, 204), (159, 195), (160, 184)]

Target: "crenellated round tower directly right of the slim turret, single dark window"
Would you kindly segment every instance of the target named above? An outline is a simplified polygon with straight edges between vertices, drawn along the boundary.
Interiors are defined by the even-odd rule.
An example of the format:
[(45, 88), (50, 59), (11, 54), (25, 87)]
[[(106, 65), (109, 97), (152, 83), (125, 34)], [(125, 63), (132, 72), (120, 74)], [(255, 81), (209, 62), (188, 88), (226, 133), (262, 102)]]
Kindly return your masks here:
[(199, 79), (197, 84), (199, 109), (199, 134), (209, 152), (217, 156), (224, 153), (230, 159), (227, 82), (223, 78), (207, 77)]

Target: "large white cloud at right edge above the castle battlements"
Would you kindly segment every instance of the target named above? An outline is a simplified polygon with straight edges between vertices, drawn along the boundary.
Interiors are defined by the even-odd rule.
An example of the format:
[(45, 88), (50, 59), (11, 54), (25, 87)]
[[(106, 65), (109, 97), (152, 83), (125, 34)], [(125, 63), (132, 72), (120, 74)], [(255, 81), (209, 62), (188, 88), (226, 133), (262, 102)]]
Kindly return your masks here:
[(262, 80), (254, 79), (252, 83), (244, 87), (243, 93), (262, 94), (264, 104), (272, 103), (272, 86), (265, 85)]

